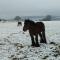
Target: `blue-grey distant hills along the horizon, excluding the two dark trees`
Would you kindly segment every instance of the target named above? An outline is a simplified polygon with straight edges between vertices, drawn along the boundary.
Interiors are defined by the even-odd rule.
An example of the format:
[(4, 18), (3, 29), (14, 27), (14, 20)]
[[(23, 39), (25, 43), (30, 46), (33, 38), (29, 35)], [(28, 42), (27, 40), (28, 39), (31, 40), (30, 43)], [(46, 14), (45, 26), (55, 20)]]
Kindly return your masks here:
[[(25, 19), (41, 21), (45, 17), (46, 16), (22, 16), (19, 21), (23, 21)], [(15, 20), (11, 18), (11, 19), (1, 19), (1, 21), (15, 21)], [(46, 20), (46, 21), (48, 21), (48, 20)], [(60, 21), (60, 16), (52, 16), (51, 21)]]

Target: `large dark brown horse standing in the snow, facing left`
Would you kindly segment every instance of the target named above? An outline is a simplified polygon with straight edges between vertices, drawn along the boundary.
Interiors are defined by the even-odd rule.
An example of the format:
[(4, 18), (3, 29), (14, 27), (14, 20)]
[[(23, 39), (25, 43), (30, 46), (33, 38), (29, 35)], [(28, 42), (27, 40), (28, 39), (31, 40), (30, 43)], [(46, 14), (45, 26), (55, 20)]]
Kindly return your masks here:
[[(26, 19), (24, 21), (23, 31), (29, 30), (31, 37), (31, 46), (39, 47), (38, 35), (40, 36), (40, 43), (47, 43), (45, 36), (45, 25), (43, 22), (34, 22), (32, 20)], [(34, 40), (35, 36), (35, 40)]]

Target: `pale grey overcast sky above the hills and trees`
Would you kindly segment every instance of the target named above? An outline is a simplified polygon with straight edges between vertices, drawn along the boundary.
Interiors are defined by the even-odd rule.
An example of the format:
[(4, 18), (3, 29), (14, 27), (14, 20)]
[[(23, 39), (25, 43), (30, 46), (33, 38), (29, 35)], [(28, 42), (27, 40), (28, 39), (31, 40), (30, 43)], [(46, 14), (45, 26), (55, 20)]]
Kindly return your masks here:
[(0, 17), (60, 16), (60, 0), (0, 0)]

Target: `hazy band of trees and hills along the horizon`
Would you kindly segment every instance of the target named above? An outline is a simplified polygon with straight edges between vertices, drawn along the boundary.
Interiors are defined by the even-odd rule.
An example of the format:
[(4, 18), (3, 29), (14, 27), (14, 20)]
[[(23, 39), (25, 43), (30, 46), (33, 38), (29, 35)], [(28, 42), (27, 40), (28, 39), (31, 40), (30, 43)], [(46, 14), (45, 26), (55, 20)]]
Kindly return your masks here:
[[(26, 18), (26, 17), (25, 17)], [(15, 16), (12, 19), (0, 19), (0, 21), (23, 21), (25, 18), (22, 18), (20, 16)], [(51, 16), (51, 15), (46, 15), (46, 16), (32, 16), (32, 18), (35, 20), (35, 18), (37, 18), (37, 21), (53, 21), (53, 20), (60, 20), (60, 17), (56, 17), (56, 16)], [(39, 18), (39, 19), (38, 19)], [(29, 16), (27, 16), (26, 19), (30, 19)], [(32, 20), (33, 20), (32, 19)]]

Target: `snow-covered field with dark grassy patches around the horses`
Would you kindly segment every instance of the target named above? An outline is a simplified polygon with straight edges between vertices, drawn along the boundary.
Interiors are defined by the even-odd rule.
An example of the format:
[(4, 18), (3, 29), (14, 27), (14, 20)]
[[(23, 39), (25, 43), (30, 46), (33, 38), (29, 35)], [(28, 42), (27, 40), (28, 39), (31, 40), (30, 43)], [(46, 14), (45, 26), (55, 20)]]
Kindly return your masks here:
[(23, 32), (23, 25), (0, 22), (0, 60), (60, 60), (60, 21), (44, 23), (48, 43), (31, 47), (29, 33)]

